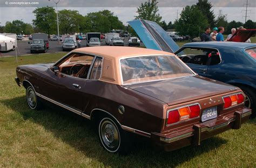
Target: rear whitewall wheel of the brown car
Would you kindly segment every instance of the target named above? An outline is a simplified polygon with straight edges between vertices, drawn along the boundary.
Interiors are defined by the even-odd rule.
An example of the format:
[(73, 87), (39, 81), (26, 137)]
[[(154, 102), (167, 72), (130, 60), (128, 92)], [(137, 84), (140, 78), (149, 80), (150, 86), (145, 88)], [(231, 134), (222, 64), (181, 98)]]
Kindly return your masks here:
[(129, 146), (129, 141), (127, 141), (127, 133), (110, 117), (104, 117), (99, 120), (98, 134), (100, 143), (107, 151), (120, 154), (124, 154), (128, 151), (127, 146)]

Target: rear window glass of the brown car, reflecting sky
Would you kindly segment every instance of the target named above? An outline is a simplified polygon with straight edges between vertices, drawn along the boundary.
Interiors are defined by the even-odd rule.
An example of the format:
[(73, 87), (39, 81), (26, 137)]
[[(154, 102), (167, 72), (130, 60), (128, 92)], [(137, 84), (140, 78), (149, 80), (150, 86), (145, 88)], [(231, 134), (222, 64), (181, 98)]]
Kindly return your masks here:
[(124, 84), (193, 75), (172, 55), (145, 56), (120, 60)]

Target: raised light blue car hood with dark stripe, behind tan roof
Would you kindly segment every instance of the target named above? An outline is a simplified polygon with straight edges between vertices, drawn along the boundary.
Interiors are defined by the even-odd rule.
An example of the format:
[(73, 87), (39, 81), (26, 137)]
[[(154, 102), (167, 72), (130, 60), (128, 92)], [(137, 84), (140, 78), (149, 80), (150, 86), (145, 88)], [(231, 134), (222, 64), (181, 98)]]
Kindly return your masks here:
[(157, 23), (143, 19), (136, 19), (127, 23), (132, 26), (147, 48), (171, 53), (179, 50), (179, 46)]

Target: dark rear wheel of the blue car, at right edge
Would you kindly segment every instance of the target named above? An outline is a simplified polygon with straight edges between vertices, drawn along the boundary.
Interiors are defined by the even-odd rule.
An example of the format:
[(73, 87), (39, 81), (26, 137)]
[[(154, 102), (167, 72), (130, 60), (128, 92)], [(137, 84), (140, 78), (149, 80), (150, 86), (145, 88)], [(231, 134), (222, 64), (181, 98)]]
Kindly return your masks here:
[(245, 93), (245, 107), (252, 109), (251, 117), (256, 117), (256, 94), (255, 90), (248, 88), (246, 86), (239, 86), (242, 92)]

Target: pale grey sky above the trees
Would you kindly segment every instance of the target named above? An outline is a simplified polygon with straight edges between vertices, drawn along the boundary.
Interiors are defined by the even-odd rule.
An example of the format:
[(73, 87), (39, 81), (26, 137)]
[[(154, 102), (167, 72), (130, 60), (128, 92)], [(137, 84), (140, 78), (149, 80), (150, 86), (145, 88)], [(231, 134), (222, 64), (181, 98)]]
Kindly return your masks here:
[[(37, 7), (53, 6), (56, 8), (55, 2), (58, 0), (0, 0), (0, 25), (3, 26), (7, 21), (22, 19), (25, 23), (32, 23), (35, 18), (32, 11)], [(71, 9), (78, 10), (83, 16), (89, 12), (108, 9), (118, 16), (118, 18), (127, 25), (127, 21), (134, 19), (137, 15), (137, 6), (146, 0), (59, 0), (58, 10)], [(197, 0), (158, 0), (159, 13), (162, 20), (166, 23), (174, 22), (178, 18), (180, 12), (186, 5), (196, 4)], [(228, 22), (232, 20), (245, 22), (245, 3), (246, 0), (209, 0), (213, 5), (214, 15), (218, 16), (219, 12), (227, 15)], [(248, 0), (247, 20), (251, 19), (256, 22), (256, 5), (255, 0)], [(20, 4), (18, 4), (20, 3)], [(23, 4), (22, 4), (23, 3)], [(30, 4), (25, 4), (30, 3)], [(31, 4), (35, 3), (35, 4)]]

